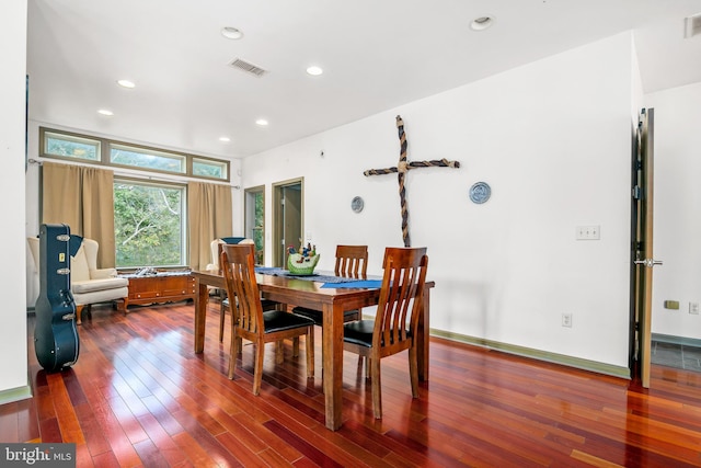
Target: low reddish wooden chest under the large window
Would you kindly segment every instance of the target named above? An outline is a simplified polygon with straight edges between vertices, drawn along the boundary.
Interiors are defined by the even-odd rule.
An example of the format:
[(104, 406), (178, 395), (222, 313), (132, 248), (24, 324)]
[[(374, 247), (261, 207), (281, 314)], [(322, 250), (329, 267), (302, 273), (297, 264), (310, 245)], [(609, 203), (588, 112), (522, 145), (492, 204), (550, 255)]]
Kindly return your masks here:
[(156, 275), (120, 275), (129, 279), (127, 304), (176, 303), (197, 297), (195, 278), (189, 272), (159, 272)]

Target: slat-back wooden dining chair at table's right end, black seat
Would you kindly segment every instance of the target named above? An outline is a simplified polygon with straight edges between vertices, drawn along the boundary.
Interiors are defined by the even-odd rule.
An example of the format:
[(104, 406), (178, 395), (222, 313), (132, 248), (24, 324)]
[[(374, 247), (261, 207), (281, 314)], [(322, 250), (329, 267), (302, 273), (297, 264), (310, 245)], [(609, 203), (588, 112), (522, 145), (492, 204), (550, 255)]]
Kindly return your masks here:
[(374, 320), (344, 324), (343, 346), (367, 359), (372, 388), (372, 412), (382, 418), (380, 359), (409, 350), (412, 397), (418, 398), (416, 327), (423, 312), (426, 248), (387, 248), (384, 273)]

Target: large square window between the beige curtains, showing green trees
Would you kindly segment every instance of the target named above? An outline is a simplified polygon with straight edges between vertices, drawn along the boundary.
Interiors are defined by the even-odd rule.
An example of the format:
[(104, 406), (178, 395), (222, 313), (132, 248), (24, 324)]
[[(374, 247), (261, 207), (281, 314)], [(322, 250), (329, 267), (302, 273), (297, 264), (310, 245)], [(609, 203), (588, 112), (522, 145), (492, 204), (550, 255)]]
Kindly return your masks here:
[(115, 179), (116, 266), (186, 265), (184, 207), (184, 186)]

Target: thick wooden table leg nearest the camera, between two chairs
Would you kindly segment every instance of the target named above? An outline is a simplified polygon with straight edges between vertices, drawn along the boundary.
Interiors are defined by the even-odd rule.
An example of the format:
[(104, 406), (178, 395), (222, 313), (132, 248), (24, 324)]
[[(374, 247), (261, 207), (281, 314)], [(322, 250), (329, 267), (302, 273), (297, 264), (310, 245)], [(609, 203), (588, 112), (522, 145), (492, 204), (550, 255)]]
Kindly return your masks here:
[(323, 306), (323, 383), (326, 427), (336, 431), (343, 423), (343, 308)]

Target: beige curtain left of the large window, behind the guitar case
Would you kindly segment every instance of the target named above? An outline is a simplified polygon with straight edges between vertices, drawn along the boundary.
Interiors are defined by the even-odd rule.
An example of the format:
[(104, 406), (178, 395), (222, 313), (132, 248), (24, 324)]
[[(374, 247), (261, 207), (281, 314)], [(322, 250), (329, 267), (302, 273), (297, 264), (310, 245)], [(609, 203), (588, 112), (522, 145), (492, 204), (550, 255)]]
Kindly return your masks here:
[(42, 222), (66, 224), (70, 232), (100, 244), (97, 267), (115, 265), (114, 173), (84, 165), (42, 164)]

